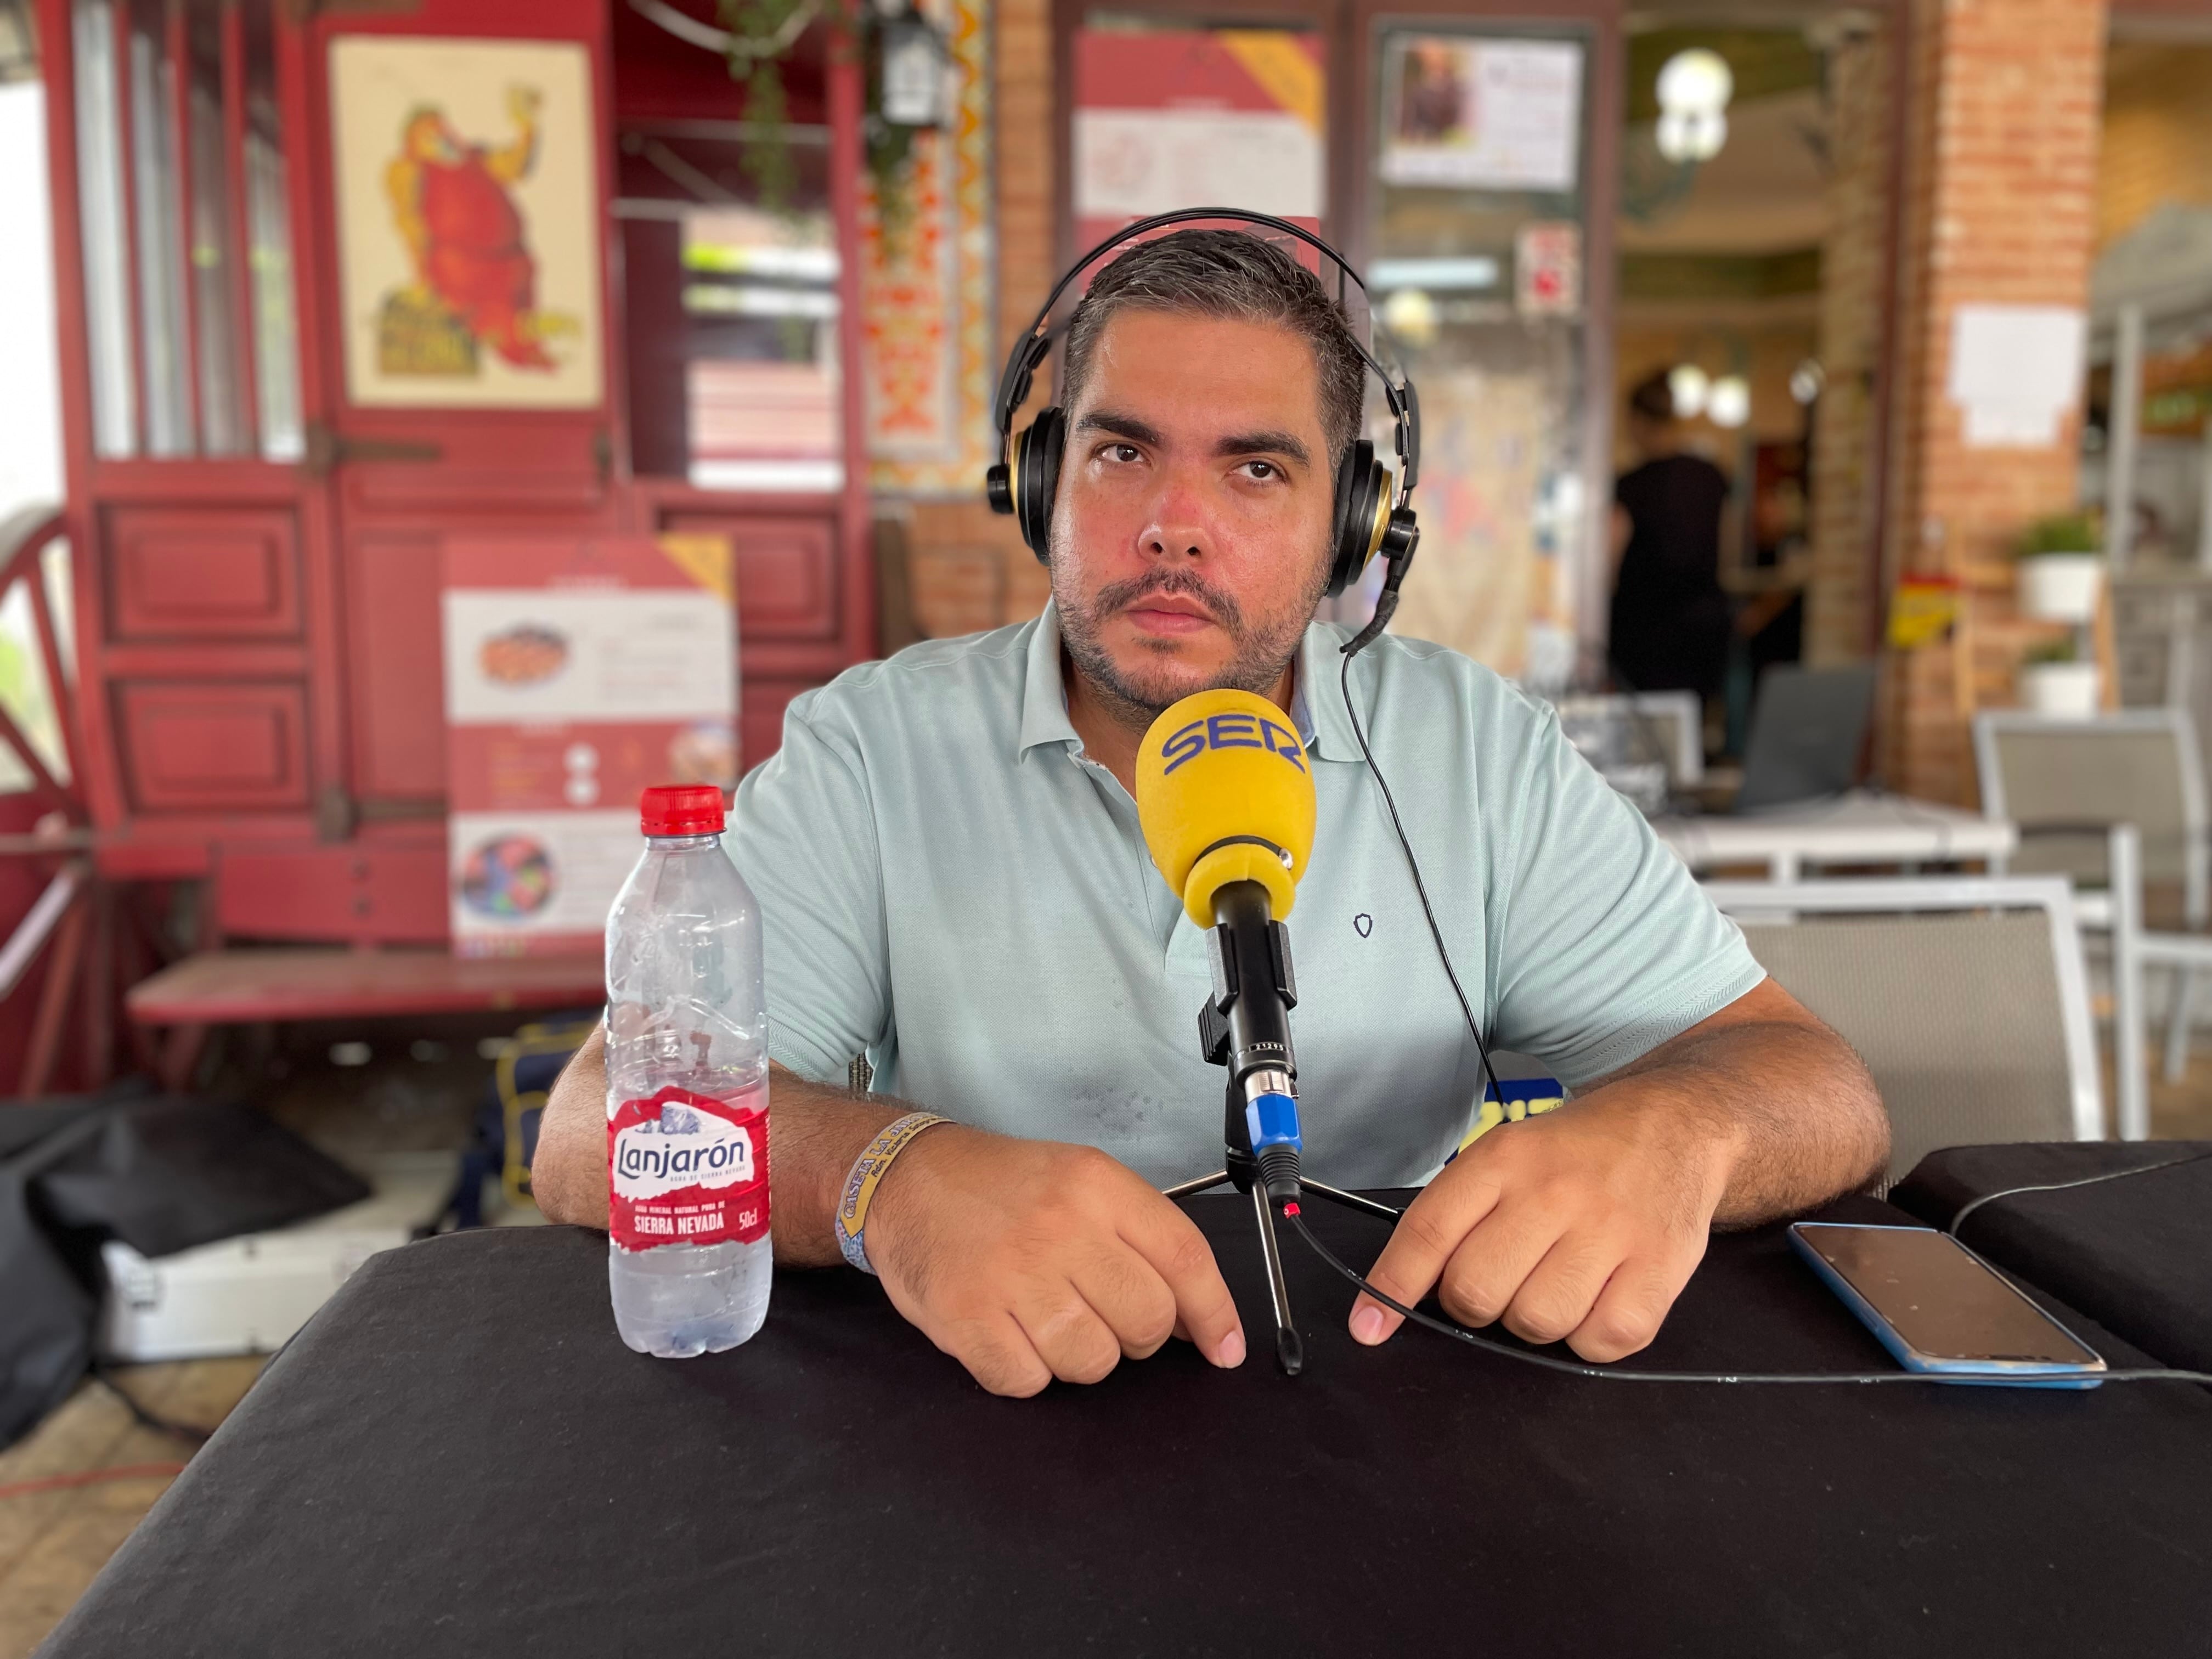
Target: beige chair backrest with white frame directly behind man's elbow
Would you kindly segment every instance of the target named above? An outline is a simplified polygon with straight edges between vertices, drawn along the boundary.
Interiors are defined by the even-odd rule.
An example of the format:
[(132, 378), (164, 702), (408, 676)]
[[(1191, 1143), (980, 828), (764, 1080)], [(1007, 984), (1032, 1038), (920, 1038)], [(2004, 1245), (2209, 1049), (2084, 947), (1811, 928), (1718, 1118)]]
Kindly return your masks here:
[(1708, 883), (1759, 964), (1867, 1062), (1889, 1179), (1940, 1146), (2104, 1135), (2073, 889), (2057, 876)]

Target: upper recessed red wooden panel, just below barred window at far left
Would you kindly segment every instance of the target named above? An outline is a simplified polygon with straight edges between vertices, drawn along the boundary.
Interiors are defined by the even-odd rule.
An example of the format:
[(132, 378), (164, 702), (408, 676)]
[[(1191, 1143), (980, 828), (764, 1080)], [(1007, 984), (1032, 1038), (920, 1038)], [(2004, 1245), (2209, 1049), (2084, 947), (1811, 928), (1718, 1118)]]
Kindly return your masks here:
[(117, 507), (106, 515), (115, 639), (296, 639), (290, 511)]

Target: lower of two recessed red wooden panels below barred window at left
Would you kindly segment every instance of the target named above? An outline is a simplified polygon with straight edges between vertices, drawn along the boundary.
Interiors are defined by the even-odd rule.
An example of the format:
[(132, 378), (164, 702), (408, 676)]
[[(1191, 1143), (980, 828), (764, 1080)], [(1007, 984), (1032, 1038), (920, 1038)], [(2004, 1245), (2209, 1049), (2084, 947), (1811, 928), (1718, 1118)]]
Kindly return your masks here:
[(305, 686), (124, 684), (115, 701), (142, 812), (307, 805)]

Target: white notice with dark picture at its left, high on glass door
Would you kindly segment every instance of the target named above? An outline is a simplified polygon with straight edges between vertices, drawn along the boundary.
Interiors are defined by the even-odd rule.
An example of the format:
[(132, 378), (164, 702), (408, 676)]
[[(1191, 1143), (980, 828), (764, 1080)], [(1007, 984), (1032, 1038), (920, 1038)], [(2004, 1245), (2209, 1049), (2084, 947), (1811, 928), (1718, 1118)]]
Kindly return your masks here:
[(1385, 184), (1575, 188), (1579, 44), (1391, 35), (1383, 73)]

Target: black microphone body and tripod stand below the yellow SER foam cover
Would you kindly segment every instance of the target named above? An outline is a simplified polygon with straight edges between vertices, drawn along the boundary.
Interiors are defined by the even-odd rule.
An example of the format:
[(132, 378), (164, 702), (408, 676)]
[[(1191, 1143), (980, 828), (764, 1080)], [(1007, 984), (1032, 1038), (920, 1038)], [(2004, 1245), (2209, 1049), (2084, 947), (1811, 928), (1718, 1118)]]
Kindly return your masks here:
[[(1214, 989), (1199, 1009), (1199, 1051), (1210, 1066), (1228, 1066), (1221, 1102), (1225, 1168), (1166, 1188), (1188, 1199), (1217, 1186), (1252, 1194), (1261, 1256), (1267, 1263), (1267, 1301), (1274, 1310), (1274, 1358), (1283, 1376), (1305, 1369), (1305, 1343), (1290, 1316), (1283, 1250), (1274, 1234), (1274, 1206), (1314, 1192), (1360, 1214), (1396, 1221), (1387, 1203), (1312, 1181), (1298, 1170), (1298, 1066), (1290, 1051), (1290, 1009), (1298, 980), (1290, 967), (1290, 931), (1267, 914), (1267, 889), (1254, 880), (1225, 883), (1214, 894), (1214, 929), (1206, 936)], [(1252, 1139), (1259, 1135), (1259, 1150)]]

